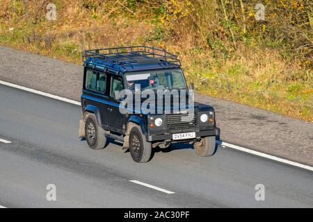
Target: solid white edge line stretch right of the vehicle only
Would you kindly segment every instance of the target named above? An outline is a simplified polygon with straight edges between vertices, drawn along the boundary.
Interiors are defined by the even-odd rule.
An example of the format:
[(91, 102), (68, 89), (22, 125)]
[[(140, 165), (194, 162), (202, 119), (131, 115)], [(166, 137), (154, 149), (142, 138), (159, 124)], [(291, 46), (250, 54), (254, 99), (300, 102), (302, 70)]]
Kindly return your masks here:
[(275, 157), (275, 156), (273, 156), (273, 155), (268, 155), (268, 154), (266, 154), (266, 153), (261, 153), (261, 152), (258, 152), (258, 151), (252, 151), (252, 150), (250, 150), (250, 149), (248, 149), (248, 148), (243, 148), (243, 147), (241, 147), (241, 146), (236, 146), (236, 145), (228, 144), (228, 143), (225, 143), (225, 142), (217, 141), (216, 143), (217, 143), (217, 144), (220, 144), (220, 145), (222, 145), (222, 146), (227, 146), (227, 147), (229, 147), (229, 148), (233, 148), (233, 149), (238, 150), (238, 151), (243, 151), (243, 152), (245, 152), (245, 153), (251, 153), (251, 154), (253, 154), (253, 155), (258, 155), (258, 156), (260, 156), (260, 157), (265, 157), (265, 158), (270, 159), (270, 160), (275, 160), (275, 161), (277, 161), (277, 162), (282, 162), (282, 163), (284, 163), (284, 164), (289, 164), (289, 165), (294, 166), (294, 167), (300, 167), (300, 168), (302, 168), (302, 169), (307, 169), (307, 170), (309, 170), (309, 171), (313, 171), (313, 167), (307, 166), (307, 165), (305, 165), (305, 164), (300, 164), (300, 163), (298, 163), (298, 162), (293, 162), (293, 161), (290, 161), (290, 160), (285, 160), (285, 159), (282, 159), (282, 158), (280, 158), (280, 157)]

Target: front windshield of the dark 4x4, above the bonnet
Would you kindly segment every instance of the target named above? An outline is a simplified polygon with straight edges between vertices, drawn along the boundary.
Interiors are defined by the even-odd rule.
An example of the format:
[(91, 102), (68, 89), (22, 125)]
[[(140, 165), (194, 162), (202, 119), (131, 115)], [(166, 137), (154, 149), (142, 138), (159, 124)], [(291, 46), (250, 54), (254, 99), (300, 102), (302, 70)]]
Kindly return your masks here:
[(128, 89), (140, 85), (144, 89), (186, 89), (184, 75), (181, 69), (166, 69), (156, 71), (140, 71), (126, 75)]

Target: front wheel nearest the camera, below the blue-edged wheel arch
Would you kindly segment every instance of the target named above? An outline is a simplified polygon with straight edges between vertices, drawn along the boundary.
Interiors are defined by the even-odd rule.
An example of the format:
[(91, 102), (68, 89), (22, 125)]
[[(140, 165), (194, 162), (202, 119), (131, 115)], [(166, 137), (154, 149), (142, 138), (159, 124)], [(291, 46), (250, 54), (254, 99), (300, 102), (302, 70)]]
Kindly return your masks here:
[(129, 133), (129, 153), (135, 162), (148, 162), (151, 157), (151, 143), (145, 141), (145, 135), (138, 125), (131, 128)]

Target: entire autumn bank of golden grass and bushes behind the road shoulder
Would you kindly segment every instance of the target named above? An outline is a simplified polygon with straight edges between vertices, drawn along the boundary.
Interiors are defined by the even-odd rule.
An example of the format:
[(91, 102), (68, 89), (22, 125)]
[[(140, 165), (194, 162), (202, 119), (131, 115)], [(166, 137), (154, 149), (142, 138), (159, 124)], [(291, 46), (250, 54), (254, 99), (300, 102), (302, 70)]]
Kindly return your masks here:
[(0, 44), (77, 63), (83, 49), (158, 46), (200, 92), (313, 121), (312, 15), (311, 0), (2, 0)]

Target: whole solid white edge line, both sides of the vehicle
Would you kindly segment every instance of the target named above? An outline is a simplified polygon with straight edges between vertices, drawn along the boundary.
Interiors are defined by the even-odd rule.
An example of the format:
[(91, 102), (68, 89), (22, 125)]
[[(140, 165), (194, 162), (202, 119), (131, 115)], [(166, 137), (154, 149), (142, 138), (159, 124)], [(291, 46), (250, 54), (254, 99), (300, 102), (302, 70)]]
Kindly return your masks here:
[[(31, 89), (31, 88), (27, 88), (27, 87), (24, 87), (24, 86), (21, 86), (21, 85), (15, 85), (13, 83), (8, 83), (8, 82), (5, 82), (5, 81), (2, 81), (0, 80), (0, 84), (1, 85), (6, 85), (6, 86), (9, 86), (9, 87), (13, 87), (13, 88), (17, 88), (17, 89), (22, 89), (26, 92), (32, 92), (34, 94), (38, 94), (38, 95), (41, 95), (41, 96), (47, 96), (51, 99), (57, 99), (59, 101), (64, 101), (66, 103), (72, 103), (74, 105), (81, 105), (81, 103), (77, 102), (77, 101), (74, 101), (74, 100), (71, 100), (71, 99), (66, 99), (66, 98), (63, 98), (61, 96), (56, 96), (56, 95), (53, 95), (53, 94), (49, 94), (49, 93), (46, 93), (46, 92), (41, 92), (39, 90), (36, 90), (36, 89)], [(294, 166), (294, 167), (300, 167), (302, 169), (307, 169), (309, 171), (313, 171), (313, 167), (310, 167), (310, 166), (307, 166), (305, 164), (300, 164), (298, 162), (292, 162), (290, 160), (284, 160), (280, 157), (275, 157), (273, 155), (268, 155), (266, 153), (261, 153), (261, 152), (258, 152), (258, 151), (252, 151), (248, 148), (243, 148), (241, 146), (236, 146), (236, 145), (233, 145), (233, 144), (228, 144), (228, 143), (225, 143), (225, 142), (220, 142), (220, 141), (217, 141), (217, 144), (220, 144), (222, 146), (227, 146), (229, 148), (234, 148), (238, 151), (243, 151), (243, 152), (246, 152), (246, 153), (251, 153), (253, 155), (258, 155), (260, 157), (264, 157), (264, 158), (267, 158), (267, 159), (270, 159), (270, 160), (275, 160), (277, 162), (282, 162), (284, 164), (289, 164), (291, 166)]]

